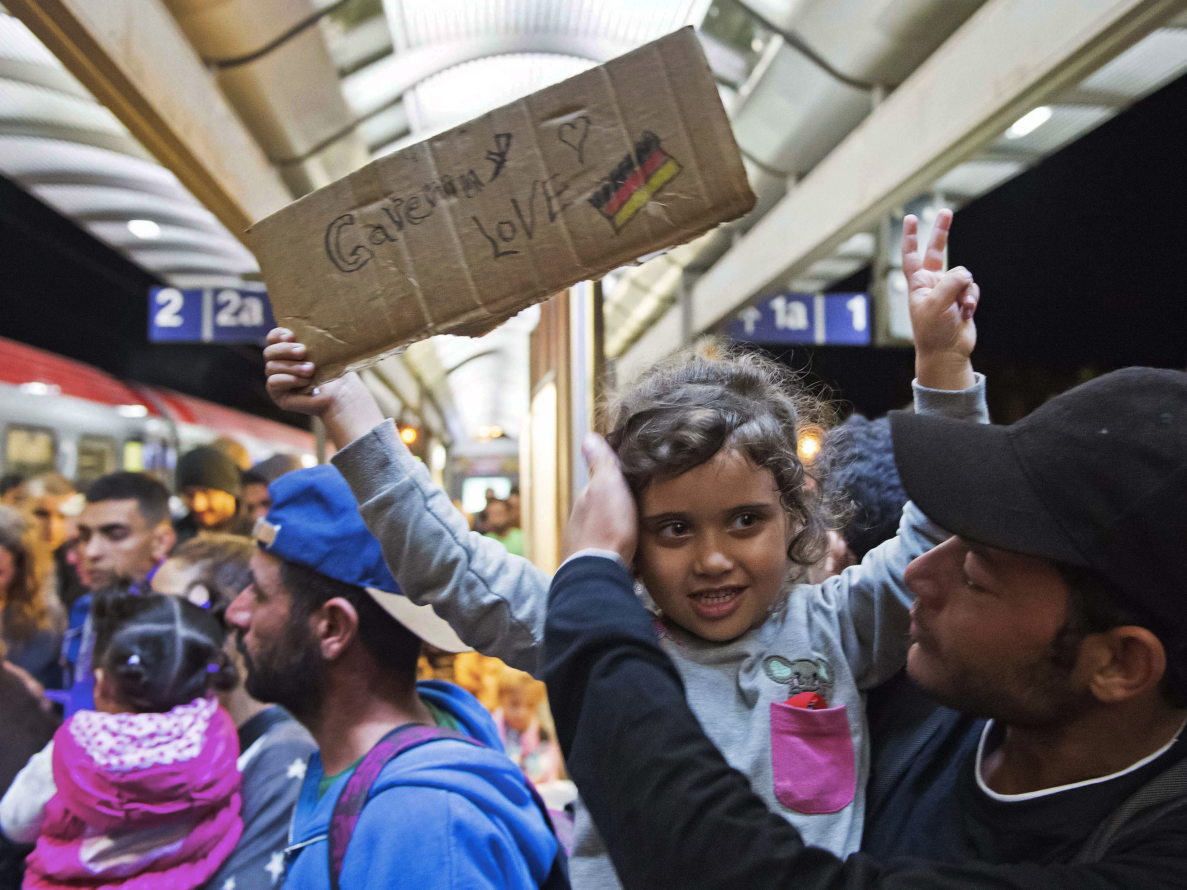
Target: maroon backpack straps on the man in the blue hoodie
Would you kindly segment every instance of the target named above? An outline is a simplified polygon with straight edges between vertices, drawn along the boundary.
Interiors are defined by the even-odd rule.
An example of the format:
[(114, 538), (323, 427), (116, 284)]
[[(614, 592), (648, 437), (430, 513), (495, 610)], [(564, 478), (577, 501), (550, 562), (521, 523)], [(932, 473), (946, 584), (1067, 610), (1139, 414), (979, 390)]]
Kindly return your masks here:
[[(355, 832), (358, 818), (362, 815), (367, 799), (370, 796), (372, 786), (375, 784), (375, 780), (379, 778), (380, 773), (383, 771), (383, 768), (389, 762), (405, 751), (411, 751), (413, 748), (442, 739), (464, 742), (475, 748), (487, 748), (482, 742), (466, 736), (464, 732), (445, 730), (439, 726), (425, 726), (418, 723), (406, 723), (383, 736), (367, 752), (362, 762), (355, 767), (355, 771), (347, 780), (347, 784), (338, 795), (338, 800), (335, 801), (334, 813), (330, 815), (329, 843), (326, 844), (330, 857), (330, 890), (341, 890), (342, 866), (347, 859), (347, 847), (350, 844), (350, 835)], [(535, 786), (526, 776), (523, 783), (527, 786), (532, 800), (535, 801), (535, 806), (544, 815), (544, 821), (548, 826), (548, 831), (556, 835), (557, 829), (552, 825), (548, 808), (540, 799), (540, 793), (535, 790)], [(565, 851), (558, 841), (557, 857), (553, 859), (547, 881), (541, 884), (541, 890), (569, 890), (569, 863), (565, 859)]]

